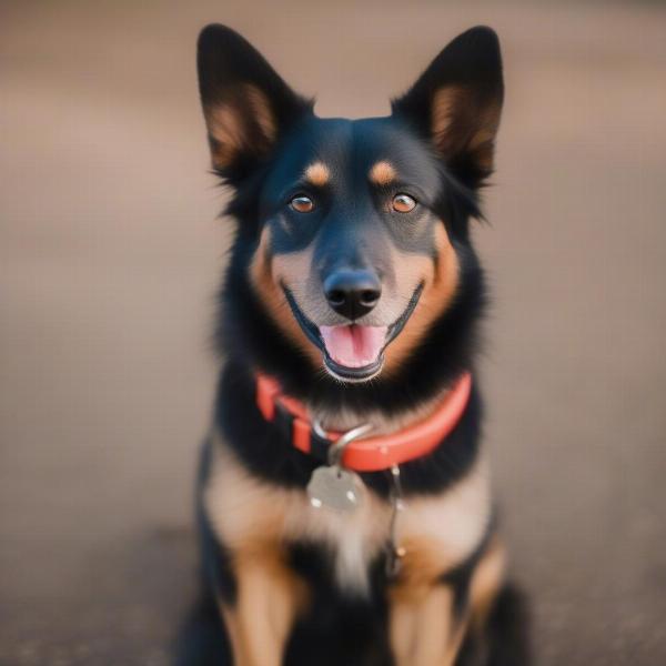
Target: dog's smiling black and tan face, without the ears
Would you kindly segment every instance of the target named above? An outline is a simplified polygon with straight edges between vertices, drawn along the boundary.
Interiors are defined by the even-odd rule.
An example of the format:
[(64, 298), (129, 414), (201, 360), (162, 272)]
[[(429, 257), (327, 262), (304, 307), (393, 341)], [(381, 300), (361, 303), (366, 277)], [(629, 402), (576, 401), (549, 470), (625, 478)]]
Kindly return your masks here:
[(438, 183), (436, 161), (391, 119), (310, 118), (278, 157), (252, 278), (279, 321), (286, 301), (295, 342), (334, 376), (375, 376), (421, 299), (418, 314), (455, 291)]

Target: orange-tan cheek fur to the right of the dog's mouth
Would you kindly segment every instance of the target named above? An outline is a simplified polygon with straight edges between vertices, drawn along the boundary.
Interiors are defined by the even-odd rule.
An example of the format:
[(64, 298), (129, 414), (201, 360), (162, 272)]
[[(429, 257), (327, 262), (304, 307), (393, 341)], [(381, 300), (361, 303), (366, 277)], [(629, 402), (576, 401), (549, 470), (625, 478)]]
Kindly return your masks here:
[[(432, 262), (423, 258), (414, 258), (411, 264), (396, 261), (396, 268), (403, 266), (407, 275), (423, 275), (425, 286), (421, 300), (412, 316), (408, 319), (402, 333), (386, 347), (386, 365), (384, 372), (392, 373), (400, 369), (400, 364), (408, 356), (410, 352), (418, 344), (431, 324), (448, 307), (458, 285), (458, 261), (455, 250), (448, 240), (444, 224), (436, 229), (435, 245), (437, 250), (437, 270), (432, 269)], [(425, 265), (427, 262), (427, 266)], [(421, 268), (420, 268), (421, 266)], [(416, 271), (416, 272), (415, 272)], [(401, 283), (401, 276), (397, 276)], [(412, 278), (412, 282), (414, 279)]]

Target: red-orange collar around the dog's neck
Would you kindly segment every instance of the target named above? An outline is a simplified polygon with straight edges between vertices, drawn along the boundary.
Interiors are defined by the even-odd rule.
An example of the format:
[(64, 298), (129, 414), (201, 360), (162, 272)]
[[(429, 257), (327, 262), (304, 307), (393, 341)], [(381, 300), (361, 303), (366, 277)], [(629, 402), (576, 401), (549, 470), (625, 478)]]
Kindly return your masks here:
[[(472, 375), (465, 372), (434, 414), (395, 433), (351, 442), (345, 446), (342, 464), (357, 472), (379, 472), (427, 455), (457, 425), (467, 406), (471, 389)], [(343, 434), (317, 435), (305, 405), (284, 395), (273, 377), (258, 375), (256, 404), (266, 421), (279, 422), (299, 451), (324, 461), (329, 446)]]

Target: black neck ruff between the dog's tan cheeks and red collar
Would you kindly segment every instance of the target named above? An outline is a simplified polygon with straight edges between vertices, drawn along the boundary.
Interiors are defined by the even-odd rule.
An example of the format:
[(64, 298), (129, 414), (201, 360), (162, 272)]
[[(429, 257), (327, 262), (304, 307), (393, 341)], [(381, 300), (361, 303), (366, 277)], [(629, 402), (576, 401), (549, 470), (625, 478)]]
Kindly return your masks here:
[(464, 240), (458, 243), (462, 279), (455, 302), (393, 379), (341, 385), (313, 373), (307, 359), (282, 334), (248, 282), (248, 263), (256, 240), (242, 236), (232, 249), (220, 296), (220, 347), (230, 359), (241, 360), (245, 369), (261, 367), (275, 376), (285, 393), (307, 398), (313, 405), (361, 410), (380, 405), (387, 413), (413, 410), (440, 393), (462, 371), (473, 367), (485, 290), (476, 254)]

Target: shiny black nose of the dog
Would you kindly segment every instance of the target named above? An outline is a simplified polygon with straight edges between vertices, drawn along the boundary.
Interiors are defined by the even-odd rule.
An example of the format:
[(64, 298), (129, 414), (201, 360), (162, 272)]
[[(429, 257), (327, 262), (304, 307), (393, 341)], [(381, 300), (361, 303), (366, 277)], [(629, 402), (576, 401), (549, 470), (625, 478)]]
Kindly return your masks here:
[(324, 280), (324, 293), (335, 312), (357, 320), (377, 304), (382, 284), (372, 271), (342, 270)]

